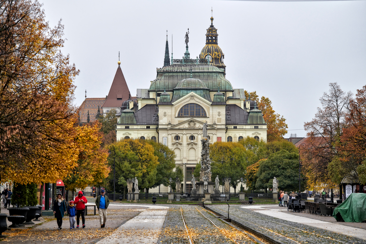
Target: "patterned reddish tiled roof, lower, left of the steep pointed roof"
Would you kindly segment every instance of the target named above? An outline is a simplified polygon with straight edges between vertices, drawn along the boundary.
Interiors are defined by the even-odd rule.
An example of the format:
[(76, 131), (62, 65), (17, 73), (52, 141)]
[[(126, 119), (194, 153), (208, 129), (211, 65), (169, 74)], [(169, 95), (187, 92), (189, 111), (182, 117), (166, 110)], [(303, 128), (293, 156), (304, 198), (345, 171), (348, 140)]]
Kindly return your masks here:
[(98, 113), (98, 105), (100, 107), (100, 113), (101, 115), (103, 115), (102, 105), (105, 101), (106, 98), (87, 98), (86, 100), (84, 100), (84, 102), (80, 105), (78, 109), (80, 122), (87, 122), (87, 111), (89, 111), (90, 122), (94, 122), (96, 120), (95, 116)]

